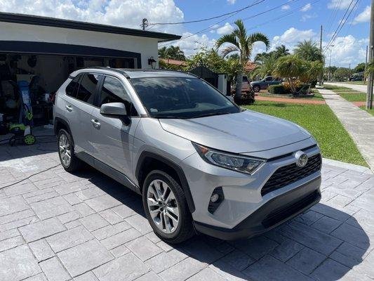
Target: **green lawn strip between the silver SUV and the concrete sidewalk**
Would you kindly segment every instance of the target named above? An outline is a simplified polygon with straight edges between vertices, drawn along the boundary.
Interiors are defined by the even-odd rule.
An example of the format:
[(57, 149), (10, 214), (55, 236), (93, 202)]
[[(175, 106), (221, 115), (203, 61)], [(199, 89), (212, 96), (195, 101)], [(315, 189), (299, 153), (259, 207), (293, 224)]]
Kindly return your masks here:
[(290, 120), (318, 141), (323, 157), (368, 166), (352, 138), (328, 105), (302, 105), (256, 100), (246, 108)]

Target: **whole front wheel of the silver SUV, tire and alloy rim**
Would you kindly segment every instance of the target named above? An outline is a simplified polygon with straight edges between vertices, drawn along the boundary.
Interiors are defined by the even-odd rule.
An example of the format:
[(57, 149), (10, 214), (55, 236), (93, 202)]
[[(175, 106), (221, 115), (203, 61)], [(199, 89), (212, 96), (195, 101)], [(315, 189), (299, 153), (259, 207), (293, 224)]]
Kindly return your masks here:
[(174, 178), (163, 171), (150, 172), (142, 198), (149, 224), (160, 239), (176, 244), (194, 235), (185, 192)]

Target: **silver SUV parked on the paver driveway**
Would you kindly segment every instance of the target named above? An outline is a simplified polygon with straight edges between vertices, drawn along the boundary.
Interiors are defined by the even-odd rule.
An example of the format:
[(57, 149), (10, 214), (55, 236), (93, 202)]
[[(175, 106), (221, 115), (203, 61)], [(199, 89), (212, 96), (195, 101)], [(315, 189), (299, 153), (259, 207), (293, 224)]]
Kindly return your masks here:
[(54, 126), (65, 170), (83, 161), (142, 195), (166, 242), (251, 237), (321, 198), (307, 131), (243, 110), (192, 74), (78, 70), (58, 90)]

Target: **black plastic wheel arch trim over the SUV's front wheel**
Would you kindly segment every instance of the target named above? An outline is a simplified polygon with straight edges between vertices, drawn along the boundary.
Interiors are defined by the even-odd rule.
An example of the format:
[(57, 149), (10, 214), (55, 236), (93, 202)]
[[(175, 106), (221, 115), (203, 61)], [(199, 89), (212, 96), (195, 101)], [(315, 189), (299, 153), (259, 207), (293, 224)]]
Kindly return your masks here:
[(166, 173), (173, 176), (175, 181), (180, 184), (180, 187), (185, 192), (189, 211), (191, 213), (194, 212), (194, 200), (192, 199), (191, 190), (189, 189), (189, 184), (187, 182), (184, 171), (171, 159), (167, 159), (166, 157), (158, 155), (154, 152), (144, 151), (138, 159), (138, 164), (136, 165), (135, 169), (135, 177), (138, 180), (140, 192), (142, 192), (142, 185), (145, 181), (145, 178), (147, 177), (149, 172), (153, 171), (154, 169), (165, 171)]

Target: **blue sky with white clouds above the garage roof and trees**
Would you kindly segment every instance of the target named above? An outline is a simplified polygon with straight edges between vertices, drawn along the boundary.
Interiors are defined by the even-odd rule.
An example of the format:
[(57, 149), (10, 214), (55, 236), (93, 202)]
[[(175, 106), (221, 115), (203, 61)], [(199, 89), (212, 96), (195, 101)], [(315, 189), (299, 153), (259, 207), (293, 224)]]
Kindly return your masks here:
[[(232, 22), (248, 18), (248, 32), (262, 32), (269, 37), (271, 49), (285, 44), (291, 51), (298, 41), (319, 41), (323, 25), (323, 45), (328, 44), (350, 3), (357, 0), (7, 0), (0, 1), (0, 11), (45, 15), (85, 22), (140, 28), (142, 18), (152, 22), (185, 22), (209, 18), (236, 11), (255, 2), (251, 8), (230, 18), (222, 17), (206, 22), (184, 25), (152, 25), (150, 30), (182, 35), (172, 42), (187, 55), (201, 47), (211, 48), (215, 40), (233, 29)], [(352, 4), (352, 6), (353, 6)], [(256, 13), (272, 9), (252, 18)], [(370, 19), (370, 0), (358, 0), (333, 47), (326, 51), (332, 65), (354, 67), (365, 60)], [(298, 11), (295, 9), (300, 8)], [(291, 13), (293, 12), (293, 13)], [(290, 15), (284, 16), (287, 13)], [(276, 18), (283, 17), (279, 20)], [(209, 28), (210, 27), (210, 28)], [(200, 30), (207, 29), (199, 34)], [(253, 55), (265, 51), (263, 44), (255, 44)]]

